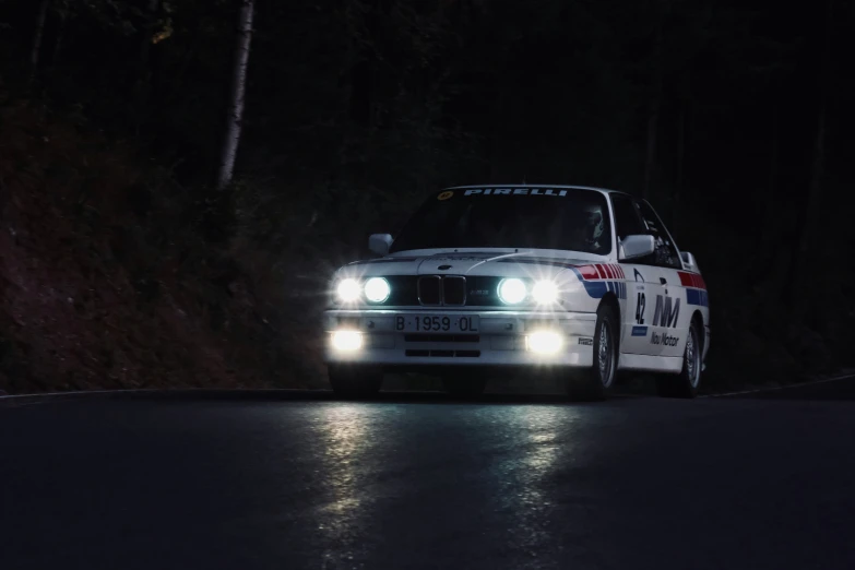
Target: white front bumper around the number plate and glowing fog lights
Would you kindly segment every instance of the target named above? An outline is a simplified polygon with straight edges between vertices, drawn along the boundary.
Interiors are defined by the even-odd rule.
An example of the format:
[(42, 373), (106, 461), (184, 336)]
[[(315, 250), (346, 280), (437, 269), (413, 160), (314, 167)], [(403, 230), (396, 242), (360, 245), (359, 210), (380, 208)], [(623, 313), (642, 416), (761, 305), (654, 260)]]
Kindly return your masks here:
[[(406, 334), (394, 330), (402, 313), (477, 314), (477, 334)], [(389, 368), (432, 366), (572, 366), (593, 364), (596, 314), (586, 312), (477, 311), (477, 310), (329, 310), (324, 313), (324, 359), (328, 364), (371, 364)], [(363, 345), (341, 351), (332, 345), (335, 331), (358, 331)], [(534, 332), (556, 332), (560, 351), (534, 352), (526, 340)]]

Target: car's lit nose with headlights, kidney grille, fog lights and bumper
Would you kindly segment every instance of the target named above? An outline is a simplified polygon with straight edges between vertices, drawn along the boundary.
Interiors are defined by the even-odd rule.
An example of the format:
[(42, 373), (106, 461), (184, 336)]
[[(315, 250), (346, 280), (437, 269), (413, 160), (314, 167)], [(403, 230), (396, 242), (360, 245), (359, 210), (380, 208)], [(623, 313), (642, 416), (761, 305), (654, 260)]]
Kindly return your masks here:
[(596, 304), (571, 271), (538, 275), (504, 258), (502, 274), (454, 272), (472, 257), (428, 257), (421, 270), (427, 264), (432, 272), (423, 274), (383, 271), (414, 263), (406, 258), (340, 271), (324, 316), (326, 361), (405, 369), (591, 366)]

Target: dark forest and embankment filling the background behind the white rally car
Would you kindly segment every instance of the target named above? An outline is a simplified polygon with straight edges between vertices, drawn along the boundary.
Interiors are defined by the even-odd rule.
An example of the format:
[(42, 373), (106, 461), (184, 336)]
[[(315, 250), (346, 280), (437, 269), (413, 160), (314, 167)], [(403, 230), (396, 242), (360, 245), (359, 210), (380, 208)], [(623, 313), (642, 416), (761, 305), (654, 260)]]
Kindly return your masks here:
[(523, 180), (651, 200), (709, 284), (708, 388), (831, 373), (853, 24), (844, 0), (0, 0), (0, 389), (322, 385), (332, 270), (428, 192)]

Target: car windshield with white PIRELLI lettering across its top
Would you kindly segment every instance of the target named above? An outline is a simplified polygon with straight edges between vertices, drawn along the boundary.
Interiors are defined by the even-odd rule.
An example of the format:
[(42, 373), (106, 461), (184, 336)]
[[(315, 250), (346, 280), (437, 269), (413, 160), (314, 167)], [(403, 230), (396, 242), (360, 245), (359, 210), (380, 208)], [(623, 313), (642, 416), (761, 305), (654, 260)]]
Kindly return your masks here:
[(391, 251), (437, 248), (611, 252), (605, 195), (578, 188), (460, 188), (429, 198)]

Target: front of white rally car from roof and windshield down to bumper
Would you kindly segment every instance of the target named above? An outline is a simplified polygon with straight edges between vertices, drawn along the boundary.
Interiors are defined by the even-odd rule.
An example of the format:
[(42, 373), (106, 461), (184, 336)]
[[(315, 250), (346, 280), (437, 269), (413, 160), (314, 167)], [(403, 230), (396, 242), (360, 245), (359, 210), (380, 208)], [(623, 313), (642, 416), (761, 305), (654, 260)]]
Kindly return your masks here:
[(371, 236), (379, 259), (335, 273), (324, 314), (333, 388), (370, 392), (389, 370), (590, 368), (603, 295), (581, 271), (613, 253), (608, 219), (606, 194), (574, 187), (429, 198), (394, 240)]

